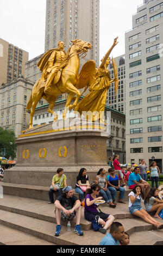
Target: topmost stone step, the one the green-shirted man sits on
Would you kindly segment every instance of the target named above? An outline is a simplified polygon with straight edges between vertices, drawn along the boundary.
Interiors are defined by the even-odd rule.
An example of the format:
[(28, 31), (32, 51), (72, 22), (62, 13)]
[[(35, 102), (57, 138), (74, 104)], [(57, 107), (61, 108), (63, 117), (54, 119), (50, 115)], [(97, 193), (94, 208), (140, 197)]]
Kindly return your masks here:
[[(24, 185), (1, 182), (0, 185), (3, 187), (4, 194), (10, 194), (17, 197), (27, 197), (39, 200), (49, 200), (49, 187), (46, 186), (36, 186), (36, 185)], [(124, 195), (124, 200), (128, 201), (128, 194), (131, 190), (127, 187), (126, 193)], [(79, 198), (79, 194), (74, 192), (74, 195)], [(120, 192), (117, 191), (116, 200), (120, 197)], [(54, 193), (54, 200), (57, 198), (57, 193)]]

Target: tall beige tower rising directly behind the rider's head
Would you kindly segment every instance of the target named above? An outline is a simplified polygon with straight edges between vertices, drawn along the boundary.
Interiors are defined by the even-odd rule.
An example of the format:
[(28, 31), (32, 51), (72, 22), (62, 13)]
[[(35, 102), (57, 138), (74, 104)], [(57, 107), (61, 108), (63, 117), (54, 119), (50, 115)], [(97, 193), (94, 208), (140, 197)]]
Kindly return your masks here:
[(94, 59), (99, 64), (99, 0), (47, 0), (45, 52), (65, 42), (81, 39), (92, 44), (92, 50), (82, 60)]

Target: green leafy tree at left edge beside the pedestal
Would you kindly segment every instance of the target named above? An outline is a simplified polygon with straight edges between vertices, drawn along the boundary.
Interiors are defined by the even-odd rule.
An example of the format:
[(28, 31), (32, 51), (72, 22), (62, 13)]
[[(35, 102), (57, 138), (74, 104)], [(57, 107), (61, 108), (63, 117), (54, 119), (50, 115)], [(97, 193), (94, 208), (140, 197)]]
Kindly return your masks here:
[[(16, 157), (15, 133), (12, 130), (5, 130), (0, 127), (0, 155), (5, 158)], [(4, 155), (5, 152), (5, 155)]]

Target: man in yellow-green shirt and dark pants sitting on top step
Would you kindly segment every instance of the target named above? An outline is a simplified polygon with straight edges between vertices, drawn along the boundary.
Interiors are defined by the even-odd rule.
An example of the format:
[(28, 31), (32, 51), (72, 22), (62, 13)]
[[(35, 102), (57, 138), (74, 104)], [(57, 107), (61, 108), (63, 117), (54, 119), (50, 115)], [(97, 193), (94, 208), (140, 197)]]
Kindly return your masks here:
[(52, 185), (49, 190), (49, 203), (48, 204), (53, 204), (54, 203), (54, 197), (53, 193), (58, 192), (58, 196), (61, 195), (62, 189), (64, 187), (67, 187), (67, 178), (66, 175), (64, 174), (64, 170), (62, 168), (57, 169), (57, 174), (53, 176), (52, 179)]

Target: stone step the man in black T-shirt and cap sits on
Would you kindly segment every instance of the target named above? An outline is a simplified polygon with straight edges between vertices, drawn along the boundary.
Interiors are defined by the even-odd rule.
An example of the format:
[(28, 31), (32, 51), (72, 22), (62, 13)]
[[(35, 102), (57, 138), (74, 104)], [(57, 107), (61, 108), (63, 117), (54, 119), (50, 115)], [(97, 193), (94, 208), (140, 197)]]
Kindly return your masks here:
[[(54, 204), (47, 204), (44, 200), (37, 200), (31, 198), (16, 197), (4, 194), (4, 198), (0, 199), (0, 209), (16, 214), (21, 214), (33, 218), (37, 218), (43, 221), (49, 221), (56, 223), (54, 214)], [(82, 218), (81, 227), (83, 230), (91, 229), (91, 222), (86, 221), (84, 218), (84, 207), (82, 206)], [(129, 218), (127, 204), (117, 204), (115, 209), (109, 208), (108, 204), (103, 204), (100, 209), (108, 214), (114, 215), (115, 218)], [(66, 222), (62, 222), (62, 225), (66, 225)], [(76, 220), (71, 221), (72, 227), (76, 224)]]

